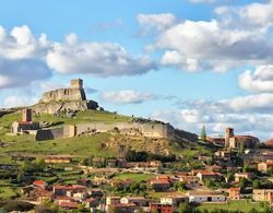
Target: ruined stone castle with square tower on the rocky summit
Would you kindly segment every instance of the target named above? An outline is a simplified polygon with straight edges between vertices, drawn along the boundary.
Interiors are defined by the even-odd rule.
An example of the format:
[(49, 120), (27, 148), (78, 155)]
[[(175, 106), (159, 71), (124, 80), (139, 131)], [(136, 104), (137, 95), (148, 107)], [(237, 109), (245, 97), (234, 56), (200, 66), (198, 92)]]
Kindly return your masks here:
[(46, 92), (38, 104), (34, 105), (36, 114), (57, 114), (68, 110), (96, 109), (98, 104), (87, 100), (83, 88), (83, 80), (71, 80), (69, 88)]

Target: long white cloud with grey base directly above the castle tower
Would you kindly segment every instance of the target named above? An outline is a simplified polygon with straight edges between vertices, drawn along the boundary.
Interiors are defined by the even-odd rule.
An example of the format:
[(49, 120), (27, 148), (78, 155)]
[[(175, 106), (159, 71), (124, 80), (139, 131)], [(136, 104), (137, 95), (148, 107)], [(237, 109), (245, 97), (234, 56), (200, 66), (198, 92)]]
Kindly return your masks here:
[(123, 47), (112, 43), (83, 43), (67, 36), (47, 54), (49, 68), (62, 74), (88, 73), (97, 76), (136, 75), (156, 69), (149, 57), (132, 57)]

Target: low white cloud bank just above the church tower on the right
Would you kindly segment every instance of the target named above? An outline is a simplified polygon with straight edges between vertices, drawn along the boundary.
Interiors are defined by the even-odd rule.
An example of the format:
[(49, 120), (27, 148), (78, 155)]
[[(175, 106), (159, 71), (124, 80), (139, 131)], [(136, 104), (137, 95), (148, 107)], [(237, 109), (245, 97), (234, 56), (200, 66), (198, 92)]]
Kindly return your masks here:
[(238, 134), (252, 134), (262, 140), (272, 134), (273, 94), (262, 93), (222, 100), (180, 102), (178, 109), (155, 110), (151, 118), (200, 133), (203, 125), (210, 134), (223, 134), (226, 127)]

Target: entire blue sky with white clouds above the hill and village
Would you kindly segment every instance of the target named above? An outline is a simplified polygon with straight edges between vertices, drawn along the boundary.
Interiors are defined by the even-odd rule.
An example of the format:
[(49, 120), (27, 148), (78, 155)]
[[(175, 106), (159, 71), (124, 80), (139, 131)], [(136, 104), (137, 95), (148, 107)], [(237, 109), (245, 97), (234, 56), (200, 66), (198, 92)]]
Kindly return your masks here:
[(273, 138), (273, 1), (1, 1), (0, 107), (72, 78), (108, 110)]

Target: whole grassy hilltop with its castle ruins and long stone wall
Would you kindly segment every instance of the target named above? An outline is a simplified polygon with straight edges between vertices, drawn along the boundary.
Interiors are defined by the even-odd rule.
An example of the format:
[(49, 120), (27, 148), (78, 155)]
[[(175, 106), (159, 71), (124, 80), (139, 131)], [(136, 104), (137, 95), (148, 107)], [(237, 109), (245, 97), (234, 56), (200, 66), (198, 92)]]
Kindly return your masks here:
[(34, 106), (2, 110), (0, 140), (1, 156), (9, 162), (14, 155), (111, 157), (120, 145), (168, 156), (198, 137), (169, 123), (106, 111), (86, 99), (82, 80), (71, 80), (69, 88), (46, 92)]

